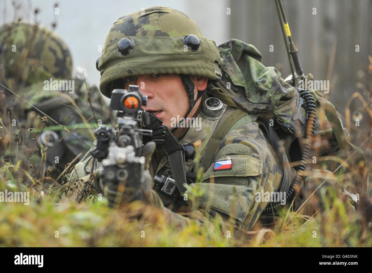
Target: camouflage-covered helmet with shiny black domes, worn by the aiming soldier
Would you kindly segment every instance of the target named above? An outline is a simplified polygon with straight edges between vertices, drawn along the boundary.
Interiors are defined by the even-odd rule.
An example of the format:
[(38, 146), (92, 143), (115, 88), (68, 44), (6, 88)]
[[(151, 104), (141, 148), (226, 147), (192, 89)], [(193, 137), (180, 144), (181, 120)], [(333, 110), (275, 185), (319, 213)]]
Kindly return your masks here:
[(100, 91), (110, 97), (110, 83), (130, 75), (182, 74), (215, 80), (221, 58), (213, 40), (203, 37), (185, 13), (150, 7), (119, 18), (111, 27), (102, 55)]

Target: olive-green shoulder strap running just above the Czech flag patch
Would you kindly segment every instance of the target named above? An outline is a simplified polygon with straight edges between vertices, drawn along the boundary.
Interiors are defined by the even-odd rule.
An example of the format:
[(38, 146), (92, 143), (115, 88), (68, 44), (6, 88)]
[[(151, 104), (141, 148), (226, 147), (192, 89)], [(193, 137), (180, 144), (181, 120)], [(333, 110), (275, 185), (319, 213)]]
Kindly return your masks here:
[(216, 152), (219, 143), (222, 141), (222, 139), (224, 139), (224, 136), (227, 134), (227, 132), (231, 129), (231, 127), (238, 120), (240, 120), (246, 115), (247, 113), (241, 109), (235, 110), (214, 131), (212, 138), (211, 138), (211, 142), (208, 148), (206, 149), (205, 156), (204, 156), (203, 163), (202, 163), (202, 167), (205, 171), (209, 168), (212, 157), (214, 153)]

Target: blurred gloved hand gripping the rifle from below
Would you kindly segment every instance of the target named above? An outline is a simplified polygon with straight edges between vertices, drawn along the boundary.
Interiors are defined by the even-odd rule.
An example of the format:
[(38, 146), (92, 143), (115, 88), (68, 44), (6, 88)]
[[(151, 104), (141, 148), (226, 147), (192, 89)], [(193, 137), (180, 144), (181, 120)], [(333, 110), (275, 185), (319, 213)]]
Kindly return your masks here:
[(109, 200), (109, 207), (114, 207), (137, 200), (143, 200), (147, 202), (147, 198), (148, 196), (150, 196), (151, 185), (153, 182), (148, 168), (155, 147), (156, 144), (151, 141), (146, 143), (142, 148), (141, 156), (145, 157), (145, 168), (141, 173), (141, 181), (131, 181), (131, 178), (128, 177), (126, 181), (123, 181), (119, 184), (112, 182), (103, 182), (103, 193)]

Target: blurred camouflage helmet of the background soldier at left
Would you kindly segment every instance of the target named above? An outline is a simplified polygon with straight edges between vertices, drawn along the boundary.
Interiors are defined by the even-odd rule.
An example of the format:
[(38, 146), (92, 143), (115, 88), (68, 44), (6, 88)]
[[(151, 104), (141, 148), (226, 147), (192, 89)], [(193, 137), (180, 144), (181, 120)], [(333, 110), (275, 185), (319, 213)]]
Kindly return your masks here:
[(70, 51), (51, 30), (32, 23), (9, 23), (0, 27), (0, 44), (6, 79), (30, 85), (52, 77), (71, 78)]

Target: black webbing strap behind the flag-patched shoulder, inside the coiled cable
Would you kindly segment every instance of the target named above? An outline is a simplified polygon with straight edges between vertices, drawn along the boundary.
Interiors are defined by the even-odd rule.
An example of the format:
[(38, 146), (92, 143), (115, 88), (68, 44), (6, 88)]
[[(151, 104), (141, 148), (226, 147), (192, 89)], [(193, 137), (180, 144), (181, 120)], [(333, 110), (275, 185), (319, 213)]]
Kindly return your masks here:
[[(284, 195), (287, 194), (289, 190), (289, 186), (291, 186), (291, 173), (289, 170), (289, 160), (287, 157), (287, 154), (283, 148), (282, 143), (280, 142), (280, 139), (278, 135), (273, 130), (272, 126), (269, 124), (269, 120), (264, 118), (259, 118), (256, 120), (257, 123), (261, 123), (264, 128), (267, 136), (269, 137), (271, 146), (273, 147), (276, 156), (281, 159), (282, 161), (282, 181), (280, 181), (279, 191), (284, 192)], [(287, 165), (287, 166), (286, 166)]]

